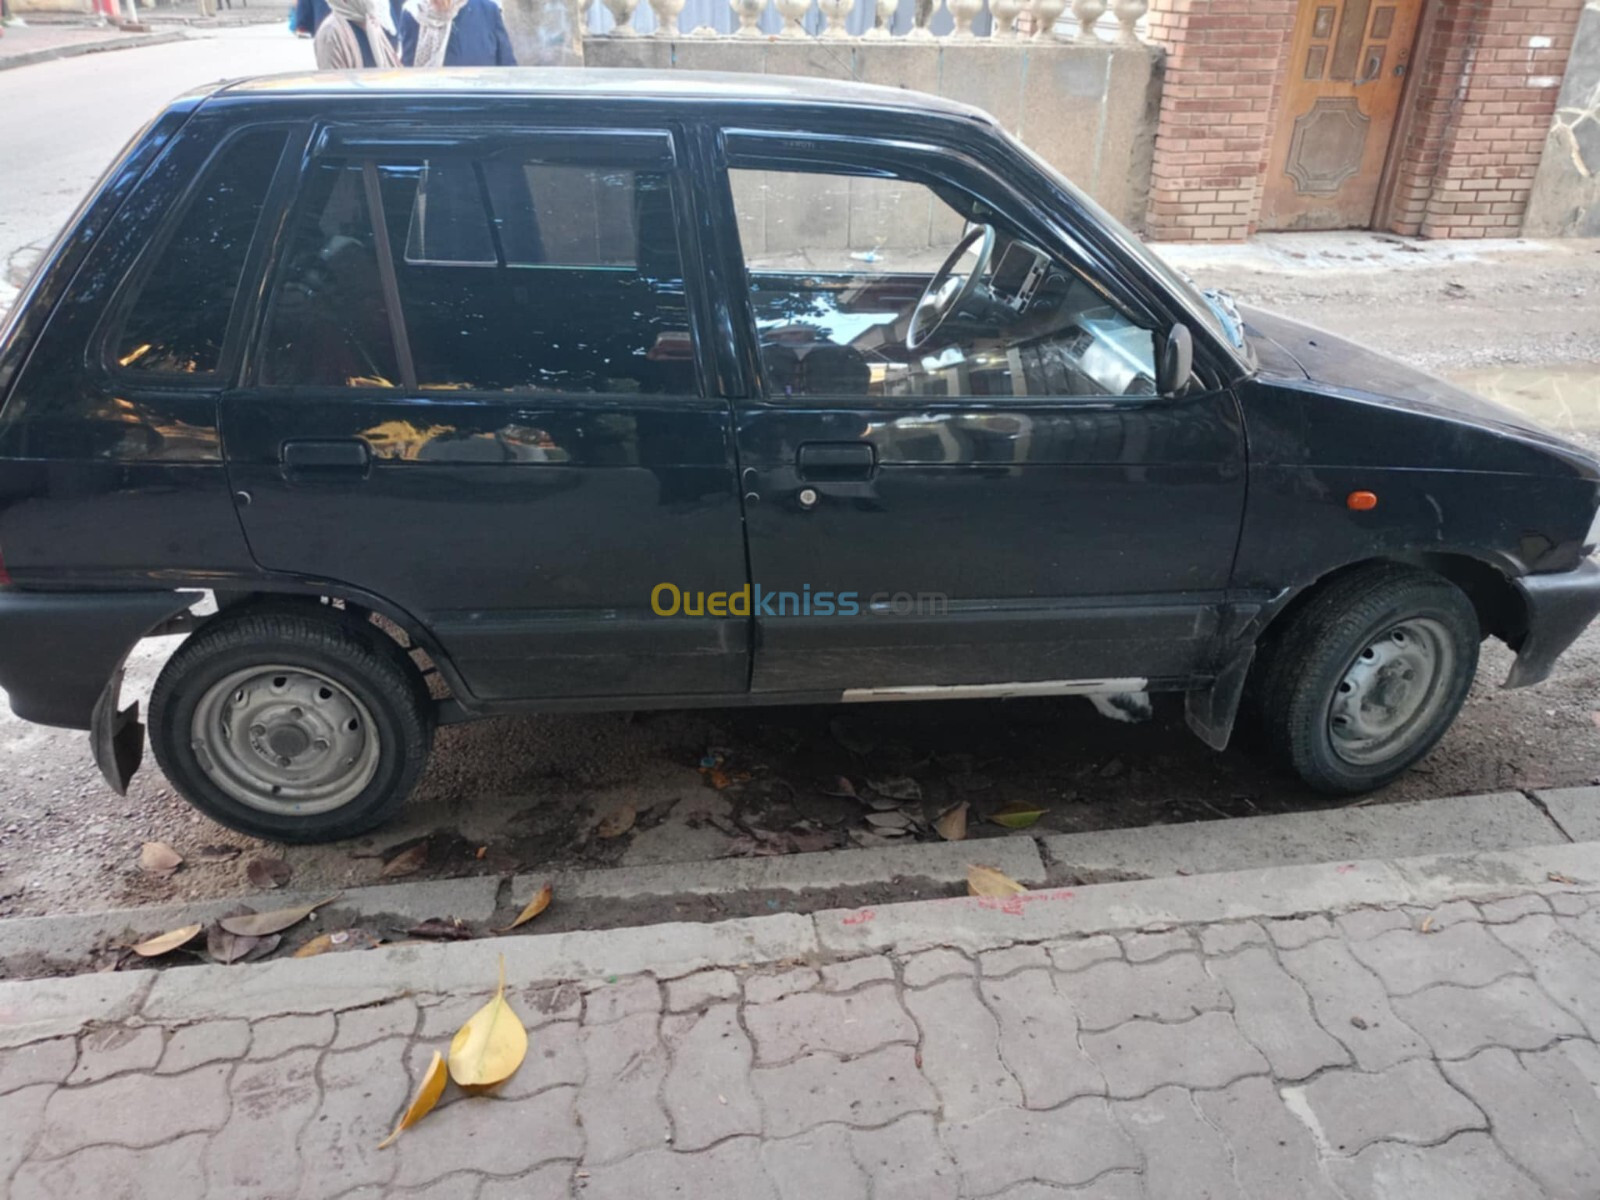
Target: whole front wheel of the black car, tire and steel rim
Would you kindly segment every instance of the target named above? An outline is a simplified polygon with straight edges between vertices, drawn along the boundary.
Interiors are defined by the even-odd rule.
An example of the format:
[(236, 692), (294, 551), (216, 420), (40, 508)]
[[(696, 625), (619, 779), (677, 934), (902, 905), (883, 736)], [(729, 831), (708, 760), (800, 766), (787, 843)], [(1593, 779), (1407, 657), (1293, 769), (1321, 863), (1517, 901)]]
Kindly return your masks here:
[[(1381, 726), (1384, 714), (1405, 710), (1414, 694), (1421, 696), (1414, 714), (1397, 723), (1392, 744), (1363, 739), (1366, 728), (1352, 725), (1350, 701), (1341, 698), (1362, 694), (1360, 682), (1352, 685), (1362, 662), (1382, 661), (1381, 654), (1398, 653), (1395, 646), (1419, 653), (1419, 640), (1434, 646), (1430, 685), (1418, 688), (1411, 680), (1419, 672), (1405, 674), (1413, 664), (1400, 659), (1398, 677), (1390, 675), (1398, 678), (1400, 702), (1371, 709)], [(1382, 787), (1432, 750), (1456, 720), (1477, 674), (1480, 642), (1472, 602), (1442, 576), (1384, 563), (1336, 578), (1290, 616), (1259, 664), (1256, 702), (1272, 752), (1318, 792)], [(1374, 694), (1390, 694), (1374, 686)]]

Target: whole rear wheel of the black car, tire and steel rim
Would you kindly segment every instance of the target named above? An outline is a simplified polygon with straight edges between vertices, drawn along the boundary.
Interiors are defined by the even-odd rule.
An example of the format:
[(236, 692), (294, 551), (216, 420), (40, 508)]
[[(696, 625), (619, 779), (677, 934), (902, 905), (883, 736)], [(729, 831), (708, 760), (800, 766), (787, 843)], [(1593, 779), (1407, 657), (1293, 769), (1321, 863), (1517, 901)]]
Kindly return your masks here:
[(173, 786), (274, 842), (331, 842), (395, 816), (430, 741), (416, 667), (334, 610), (218, 618), (150, 694), (150, 746)]

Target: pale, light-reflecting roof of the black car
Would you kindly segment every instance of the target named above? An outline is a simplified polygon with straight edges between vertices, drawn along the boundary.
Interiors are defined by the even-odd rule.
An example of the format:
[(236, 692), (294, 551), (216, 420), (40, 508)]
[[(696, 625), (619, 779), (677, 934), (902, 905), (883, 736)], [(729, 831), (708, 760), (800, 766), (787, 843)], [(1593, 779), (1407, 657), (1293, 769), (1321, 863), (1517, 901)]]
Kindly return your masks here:
[(616, 67), (458, 67), (442, 70), (317, 70), (222, 83), (211, 96), (560, 96), (566, 99), (792, 104), (962, 117), (994, 123), (968, 104), (906, 88), (848, 80), (749, 75), (731, 70)]

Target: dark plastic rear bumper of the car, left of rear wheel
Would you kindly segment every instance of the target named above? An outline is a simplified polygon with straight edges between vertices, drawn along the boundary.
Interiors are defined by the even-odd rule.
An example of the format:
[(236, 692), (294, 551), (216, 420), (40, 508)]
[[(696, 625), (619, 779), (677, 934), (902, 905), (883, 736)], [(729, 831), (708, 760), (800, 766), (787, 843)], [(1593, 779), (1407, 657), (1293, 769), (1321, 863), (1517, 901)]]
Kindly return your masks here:
[(133, 645), (200, 592), (0, 592), (0, 688), (11, 712), (88, 730)]

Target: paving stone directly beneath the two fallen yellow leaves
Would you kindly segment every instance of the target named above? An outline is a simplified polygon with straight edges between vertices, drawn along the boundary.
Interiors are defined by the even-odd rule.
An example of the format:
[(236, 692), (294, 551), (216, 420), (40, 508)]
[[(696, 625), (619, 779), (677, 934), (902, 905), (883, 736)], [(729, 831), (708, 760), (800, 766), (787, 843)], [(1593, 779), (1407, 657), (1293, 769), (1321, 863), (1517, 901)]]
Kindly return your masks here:
[(456, 1171), (520, 1174), (538, 1163), (578, 1158), (584, 1133), (576, 1098), (576, 1088), (550, 1088), (518, 1101), (456, 1096), (389, 1150), (400, 1158), (394, 1187), (419, 1187)]

